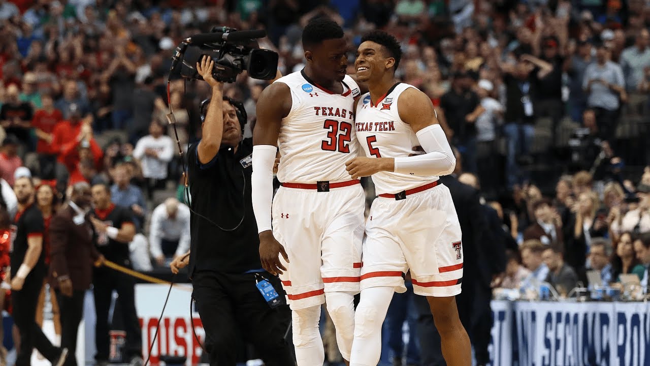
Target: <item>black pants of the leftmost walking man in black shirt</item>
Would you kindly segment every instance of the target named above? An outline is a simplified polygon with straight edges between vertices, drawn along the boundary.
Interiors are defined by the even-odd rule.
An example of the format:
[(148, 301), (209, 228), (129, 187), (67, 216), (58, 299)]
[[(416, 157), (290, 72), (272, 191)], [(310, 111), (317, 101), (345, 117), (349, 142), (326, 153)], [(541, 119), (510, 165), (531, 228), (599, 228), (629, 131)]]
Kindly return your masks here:
[(29, 365), (34, 348), (53, 364), (61, 356), (61, 349), (53, 346), (40, 326), (36, 324), (36, 303), (44, 277), (44, 269), (34, 268), (25, 279), (23, 289), (12, 292), (14, 309), (12, 316), (20, 333), (20, 349), (16, 355), (16, 366)]

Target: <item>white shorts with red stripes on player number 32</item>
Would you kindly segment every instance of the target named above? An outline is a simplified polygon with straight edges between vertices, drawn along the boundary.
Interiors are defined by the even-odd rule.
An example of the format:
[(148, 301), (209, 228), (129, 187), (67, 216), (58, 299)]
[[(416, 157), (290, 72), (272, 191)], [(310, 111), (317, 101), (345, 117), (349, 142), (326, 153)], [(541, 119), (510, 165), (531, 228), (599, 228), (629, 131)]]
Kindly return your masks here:
[(273, 199), (273, 234), (289, 255), (289, 263), (280, 255), (287, 271), (279, 277), (291, 309), (320, 305), (325, 292), (359, 292), (365, 193), (354, 182), (328, 191), (283, 184)]

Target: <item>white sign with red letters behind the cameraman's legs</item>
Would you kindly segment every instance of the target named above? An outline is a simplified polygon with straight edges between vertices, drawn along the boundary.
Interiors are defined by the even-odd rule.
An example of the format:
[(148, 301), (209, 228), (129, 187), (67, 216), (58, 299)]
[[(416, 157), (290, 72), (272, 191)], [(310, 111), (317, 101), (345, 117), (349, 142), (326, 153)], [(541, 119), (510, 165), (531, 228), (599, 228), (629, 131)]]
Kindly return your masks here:
[[(151, 350), (151, 363), (159, 363), (159, 356), (187, 356), (186, 365), (196, 365), (201, 357), (201, 346), (196, 342), (192, 333), (190, 322), (190, 296), (191, 285), (184, 286), (189, 290), (172, 289), (169, 302), (164, 310), (161, 327), (158, 331), (156, 343)], [(168, 285), (138, 284), (135, 285), (135, 307), (140, 318), (142, 328), (142, 352), (147, 358), (149, 346), (153, 340), (158, 318), (161, 316), (162, 305), (169, 290)], [(201, 318), (192, 307), (192, 318), (196, 335), (203, 343), (205, 331), (201, 325)]]

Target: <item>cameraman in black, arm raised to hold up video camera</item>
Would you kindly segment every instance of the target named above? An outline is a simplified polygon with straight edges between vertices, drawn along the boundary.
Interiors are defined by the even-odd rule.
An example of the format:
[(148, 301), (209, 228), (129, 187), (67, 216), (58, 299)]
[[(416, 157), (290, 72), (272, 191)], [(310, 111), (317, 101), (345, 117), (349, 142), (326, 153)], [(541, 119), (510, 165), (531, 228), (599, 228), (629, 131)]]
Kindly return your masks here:
[[(208, 101), (201, 104), (201, 141), (187, 152), (192, 197), (188, 275), (205, 328), (205, 348), (211, 365), (234, 366), (239, 334), (255, 346), (266, 366), (294, 365), (292, 345), (285, 340), (291, 322), (285, 294), (259, 260), (251, 201), (253, 143), (242, 139), (246, 111), (224, 98), (213, 66), (208, 57), (196, 65), (212, 97), (207, 111)], [(177, 260), (172, 267), (184, 265)], [(267, 303), (258, 289), (266, 282), (277, 291), (275, 303)]]

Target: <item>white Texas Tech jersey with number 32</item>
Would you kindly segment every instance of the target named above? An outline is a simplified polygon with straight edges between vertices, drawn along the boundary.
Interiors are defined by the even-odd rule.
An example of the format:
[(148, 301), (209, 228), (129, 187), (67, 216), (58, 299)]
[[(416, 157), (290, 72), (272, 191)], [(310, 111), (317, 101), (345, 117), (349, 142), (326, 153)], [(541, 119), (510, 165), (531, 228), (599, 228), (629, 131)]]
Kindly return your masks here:
[(354, 98), (359, 87), (343, 79), (343, 94), (334, 94), (309, 80), (304, 72), (281, 77), (291, 89), (291, 111), (278, 136), (280, 182), (315, 184), (350, 180), (345, 162), (357, 156)]

